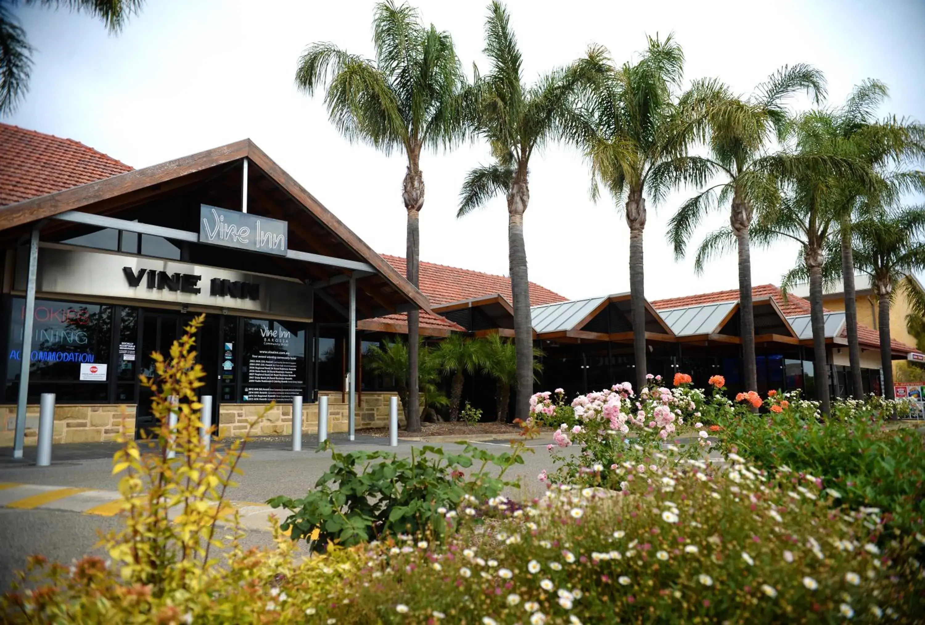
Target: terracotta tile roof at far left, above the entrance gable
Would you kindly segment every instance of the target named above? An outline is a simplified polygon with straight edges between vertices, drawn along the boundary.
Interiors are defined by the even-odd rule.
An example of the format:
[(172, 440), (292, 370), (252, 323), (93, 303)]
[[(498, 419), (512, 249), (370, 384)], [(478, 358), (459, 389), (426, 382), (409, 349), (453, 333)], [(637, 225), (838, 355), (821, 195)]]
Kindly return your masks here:
[(73, 139), (0, 124), (0, 206), (131, 169)]

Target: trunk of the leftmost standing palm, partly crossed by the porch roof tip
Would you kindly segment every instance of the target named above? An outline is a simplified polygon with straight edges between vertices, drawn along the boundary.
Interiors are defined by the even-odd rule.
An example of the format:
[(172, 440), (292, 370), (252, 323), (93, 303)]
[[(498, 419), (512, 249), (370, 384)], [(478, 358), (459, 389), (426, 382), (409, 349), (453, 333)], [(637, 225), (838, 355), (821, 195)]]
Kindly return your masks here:
[[(405, 269), (408, 281), (418, 286), (419, 255), (421, 252), (418, 213), (424, 206), (424, 177), (418, 167), (420, 147), (408, 154), (401, 199), (408, 211), (407, 257)], [(421, 396), (418, 388), (418, 348), (420, 346), (420, 312), (408, 312), (408, 411), (407, 430), (421, 431)]]

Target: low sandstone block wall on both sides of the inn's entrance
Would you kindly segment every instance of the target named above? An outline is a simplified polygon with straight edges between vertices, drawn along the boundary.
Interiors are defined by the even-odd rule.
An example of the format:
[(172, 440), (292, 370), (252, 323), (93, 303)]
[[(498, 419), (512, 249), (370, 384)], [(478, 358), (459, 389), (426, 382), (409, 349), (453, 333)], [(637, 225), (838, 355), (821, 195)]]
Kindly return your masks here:
[[(343, 432), (348, 429), (348, 406), (341, 401), (340, 393), (322, 393), (327, 395), (327, 431)], [(356, 429), (388, 427), (388, 398), (394, 393), (357, 394)], [(54, 444), (62, 443), (99, 443), (114, 441), (119, 427), (125, 418), (125, 427), (129, 432), (135, 431), (134, 405), (121, 406), (111, 404), (55, 406)], [(218, 435), (221, 438), (243, 436), (248, 424), (256, 419), (264, 409), (260, 404), (222, 404), (219, 407)], [(0, 447), (12, 447), (16, 432), (16, 405), (0, 405), (0, 419), (3, 430), (0, 431)], [(399, 424), (404, 424), (399, 400)], [(39, 406), (26, 408), (25, 444), (34, 445), (38, 441)], [(302, 431), (318, 431), (318, 405), (302, 406)], [(252, 431), (252, 436), (290, 435), (292, 433), (292, 406), (279, 404), (266, 413), (264, 419)]]

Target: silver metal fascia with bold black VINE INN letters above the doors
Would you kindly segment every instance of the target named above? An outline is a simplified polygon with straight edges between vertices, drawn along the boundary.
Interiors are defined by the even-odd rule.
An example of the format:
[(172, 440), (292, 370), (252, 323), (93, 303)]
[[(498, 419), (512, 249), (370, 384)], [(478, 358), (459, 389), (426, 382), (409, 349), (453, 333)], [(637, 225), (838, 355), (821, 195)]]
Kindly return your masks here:
[[(27, 252), (18, 250), (14, 290), (20, 293), (26, 290)], [(312, 320), (312, 289), (295, 278), (52, 243), (39, 245), (36, 291), (43, 297), (91, 295)], [(120, 345), (119, 353), (131, 355), (133, 347)]]

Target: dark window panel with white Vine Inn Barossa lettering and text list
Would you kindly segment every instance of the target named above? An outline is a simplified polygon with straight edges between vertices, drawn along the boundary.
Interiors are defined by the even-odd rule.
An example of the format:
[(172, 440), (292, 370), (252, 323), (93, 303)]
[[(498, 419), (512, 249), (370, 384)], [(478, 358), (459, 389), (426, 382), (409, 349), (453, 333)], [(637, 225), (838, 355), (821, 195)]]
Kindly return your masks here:
[(241, 319), (245, 402), (291, 401), (305, 393), (305, 324)]

